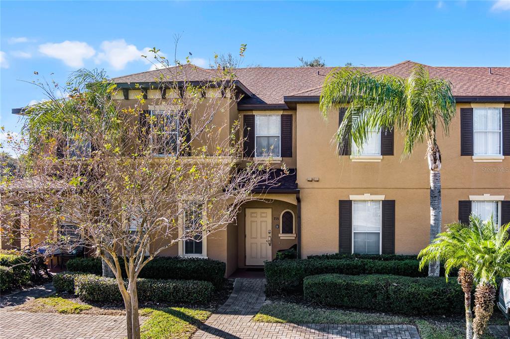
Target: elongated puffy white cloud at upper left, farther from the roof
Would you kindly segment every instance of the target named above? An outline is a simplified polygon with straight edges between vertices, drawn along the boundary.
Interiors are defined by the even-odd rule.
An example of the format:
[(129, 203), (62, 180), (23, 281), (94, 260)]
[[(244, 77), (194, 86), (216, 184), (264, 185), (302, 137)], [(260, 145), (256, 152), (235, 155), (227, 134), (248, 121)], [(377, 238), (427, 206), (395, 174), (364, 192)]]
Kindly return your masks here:
[(50, 58), (62, 60), (70, 67), (83, 67), (83, 60), (92, 58), (95, 54), (94, 48), (86, 42), (68, 40), (39, 45), (39, 52)]

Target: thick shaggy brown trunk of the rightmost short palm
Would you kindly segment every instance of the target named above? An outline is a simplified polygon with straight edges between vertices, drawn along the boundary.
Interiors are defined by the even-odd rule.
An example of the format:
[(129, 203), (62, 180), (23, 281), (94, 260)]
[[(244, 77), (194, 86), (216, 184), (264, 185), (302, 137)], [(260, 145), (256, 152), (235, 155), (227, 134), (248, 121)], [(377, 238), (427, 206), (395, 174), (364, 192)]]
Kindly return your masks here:
[(494, 312), (496, 288), (488, 283), (478, 284), (475, 291), (475, 319), (473, 320), (473, 339), (480, 339)]

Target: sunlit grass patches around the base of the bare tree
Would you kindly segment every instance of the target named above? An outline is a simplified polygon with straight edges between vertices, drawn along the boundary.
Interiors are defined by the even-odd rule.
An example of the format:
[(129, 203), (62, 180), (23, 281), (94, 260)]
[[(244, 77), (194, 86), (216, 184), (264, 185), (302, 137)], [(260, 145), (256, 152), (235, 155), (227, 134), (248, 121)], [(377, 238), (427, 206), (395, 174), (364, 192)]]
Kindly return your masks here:
[[(123, 308), (101, 308), (79, 299), (56, 295), (37, 298), (12, 310), (35, 313), (124, 315)], [(141, 326), (143, 339), (188, 339), (211, 316), (210, 310), (192, 307), (142, 308), (140, 316), (147, 317)]]

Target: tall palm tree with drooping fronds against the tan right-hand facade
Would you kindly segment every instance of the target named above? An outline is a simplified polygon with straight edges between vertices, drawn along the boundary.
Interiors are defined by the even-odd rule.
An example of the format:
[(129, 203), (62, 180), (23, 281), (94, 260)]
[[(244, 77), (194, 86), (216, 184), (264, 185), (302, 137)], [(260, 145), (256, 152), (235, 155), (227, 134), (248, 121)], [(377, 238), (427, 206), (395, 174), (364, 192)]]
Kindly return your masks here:
[[(441, 152), (437, 130), (448, 134), (455, 116), (455, 99), (451, 84), (430, 78), (421, 65), (409, 78), (374, 76), (346, 67), (329, 73), (320, 96), (324, 117), (335, 105), (347, 105), (336, 138), (350, 138), (362, 148), (369, 130), (396, 127), (404, 134), (403, 156), (411, 156), (416, 145), (427, 142), (430, 170), (430, 242), (441, 232)], [(439, 262), (430, 262), (428, 274), (439, 276)]]

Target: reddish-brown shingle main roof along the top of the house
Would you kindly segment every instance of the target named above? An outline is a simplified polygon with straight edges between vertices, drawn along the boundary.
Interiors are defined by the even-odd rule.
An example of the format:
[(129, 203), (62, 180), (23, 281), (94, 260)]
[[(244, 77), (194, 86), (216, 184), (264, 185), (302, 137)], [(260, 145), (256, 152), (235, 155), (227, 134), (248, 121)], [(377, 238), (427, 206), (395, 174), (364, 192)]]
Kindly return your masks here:
[[(417, 63), (404, 61), (389, 67), (364, 67), (372, 74), (390, 74), (407, 77)], [(455, 96), (510, 96), (510, 67), (433, 67), (424, 65), (432, 77), (450, 80)], [(256, 67), (235, 70), (237, 79), (253, 93), (240, 104), (284, 104), (284, 96), (318, 96), (324, 77), (333, 67)], [(165, 73), (167, 72), (167, 73)], [(114, 78), (117, 83), (155, 81), (160, 74), (171, 70), (156, 70)], [(216, 76), (216, 70), (185, 66), (187, 80), (207, 81)], [(171, 75), (170, 75), (171, 76)]]

